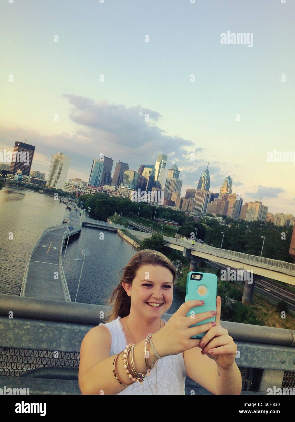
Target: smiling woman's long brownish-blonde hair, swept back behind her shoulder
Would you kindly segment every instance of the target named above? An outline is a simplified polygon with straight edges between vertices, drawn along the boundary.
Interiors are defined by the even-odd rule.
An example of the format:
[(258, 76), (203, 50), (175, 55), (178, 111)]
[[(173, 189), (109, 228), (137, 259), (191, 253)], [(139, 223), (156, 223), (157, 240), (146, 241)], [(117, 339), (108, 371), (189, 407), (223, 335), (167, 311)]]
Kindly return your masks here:
[(131, 298), (125, 292), (122, 283), (125, 281), (128, 284), (132, 284), (132, 281), (136, 276), (136, 271), (144, 264), (161, 265), (162, 267), (167, 268), (173, 275), (174, 286), (176, 270), (169, 258), (165, 257), (161, 252), (152, 249), (138, 251), (120, 271), (120, 273), (122, 272), (122, 276), (119, 276), (120, 282), (109, 298), (109, 306), (113, 306), (113, 308), (112, 313), (106, 318), (106, 322), (111, 322), (114, 319), (117, 319), (118, 316), (124, 318), (130, 314)]

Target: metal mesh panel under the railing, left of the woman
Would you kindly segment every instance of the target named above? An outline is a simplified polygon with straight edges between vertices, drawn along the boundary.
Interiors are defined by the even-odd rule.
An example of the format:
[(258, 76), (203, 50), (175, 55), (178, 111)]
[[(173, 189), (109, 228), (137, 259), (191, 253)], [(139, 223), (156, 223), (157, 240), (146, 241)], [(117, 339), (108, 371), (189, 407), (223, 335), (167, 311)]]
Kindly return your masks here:
[(58, 357), (55, 357), (53, 351), (0, 347), (1, 376), (19, 376), (31, 369), (46, 366), (78, 368), (79, 362), (79, 353), (58, 352)]

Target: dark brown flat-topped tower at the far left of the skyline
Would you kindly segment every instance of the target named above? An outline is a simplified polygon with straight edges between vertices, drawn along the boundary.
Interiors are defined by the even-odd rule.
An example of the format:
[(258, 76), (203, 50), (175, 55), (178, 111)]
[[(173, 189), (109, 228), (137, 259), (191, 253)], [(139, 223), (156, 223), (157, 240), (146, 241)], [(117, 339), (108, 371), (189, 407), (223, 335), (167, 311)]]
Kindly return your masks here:
[(9, 173), (16, 174), (17, 170), (21, 170), (22, 174), (29, 176), (34, 152), (35, 146), (29, 145), (26, 142), (16, 142), (13, 148)]

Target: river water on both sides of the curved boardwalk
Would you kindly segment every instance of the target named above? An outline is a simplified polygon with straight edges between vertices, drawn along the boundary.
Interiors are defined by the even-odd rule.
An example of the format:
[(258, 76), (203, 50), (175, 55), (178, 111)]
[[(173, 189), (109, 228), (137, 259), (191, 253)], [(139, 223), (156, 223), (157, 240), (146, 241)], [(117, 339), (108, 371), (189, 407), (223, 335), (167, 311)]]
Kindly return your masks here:
[[(61, 224), (66, 205), (53, 197), (31, 190), (4, 187), (0, 190), (0, 293), (19, 295), (24, 269), (32, 248), (46, 227)], [(66, 227), (66, 225), (65, 225)], [(104, 240), (100, 240), (100, 233)], [(75, 300), (82, 261), (82, 249), (90, 255), (80, 281), (77, 302), (106, 305), (106, 299), (119, 283), (121, 268), (136, 249), (117, 233), (83, 227), (80, 236), (69, 241), (64, 273), (72, 301)], [(184, 294), (174, 290), (174, 313), (184, 301)]]

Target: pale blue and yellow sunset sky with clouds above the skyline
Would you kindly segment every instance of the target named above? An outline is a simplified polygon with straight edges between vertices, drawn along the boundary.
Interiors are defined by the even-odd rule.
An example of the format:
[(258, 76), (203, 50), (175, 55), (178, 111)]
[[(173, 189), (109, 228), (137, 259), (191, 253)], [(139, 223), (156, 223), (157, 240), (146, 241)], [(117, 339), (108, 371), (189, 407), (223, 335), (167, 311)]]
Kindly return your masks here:
[[(209, 162), (210, 191), (231, 176), (244, 203), (295, 215), (294, 2), (7, 0), (0, 13), (1, 150), (27, 138), (32, 170), (47, 177), (61, 151), (85, 181), (100, 153), (113, 172), (167, 154), (183, 196)], [(221, 44), (227, 31), (253, 46)], [(294, 162), (267, 162), (273, 149)]]

